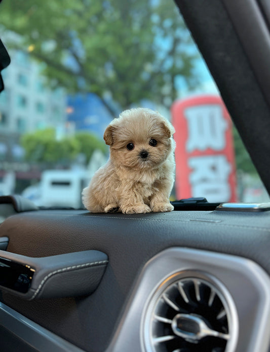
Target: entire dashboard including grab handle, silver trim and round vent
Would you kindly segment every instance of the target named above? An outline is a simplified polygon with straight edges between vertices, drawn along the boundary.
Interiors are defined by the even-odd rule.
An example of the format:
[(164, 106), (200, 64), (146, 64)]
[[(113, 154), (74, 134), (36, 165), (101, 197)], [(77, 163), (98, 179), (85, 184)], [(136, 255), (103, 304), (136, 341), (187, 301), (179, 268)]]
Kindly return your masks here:
[(1, 335), (26, 351), (268, 351), (270, 212), (249, 210), (7, 217), (2, 262), (36, 272), (31, 294), (2, 286)]

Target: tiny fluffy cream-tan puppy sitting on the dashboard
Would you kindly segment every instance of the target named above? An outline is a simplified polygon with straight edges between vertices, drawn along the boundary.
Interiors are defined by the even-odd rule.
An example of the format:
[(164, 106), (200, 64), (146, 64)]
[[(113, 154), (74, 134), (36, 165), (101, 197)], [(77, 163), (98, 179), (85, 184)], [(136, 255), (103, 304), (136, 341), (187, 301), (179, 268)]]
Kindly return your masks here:
[(172, 211), (174, 128), (158, 112), (123, 111), (104, 132), (108, 162), (83, 189), (83, 204), (93, 213)]

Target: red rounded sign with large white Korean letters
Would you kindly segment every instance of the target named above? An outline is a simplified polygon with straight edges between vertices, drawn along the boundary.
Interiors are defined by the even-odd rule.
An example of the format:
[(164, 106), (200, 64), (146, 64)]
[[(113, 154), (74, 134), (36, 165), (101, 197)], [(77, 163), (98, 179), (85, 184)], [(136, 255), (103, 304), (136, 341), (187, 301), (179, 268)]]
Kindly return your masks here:
[(200, 95), (176, 101), (172, 123), (176, 130), (176, 198), (236, 202), (232, 121), (221, 98)]

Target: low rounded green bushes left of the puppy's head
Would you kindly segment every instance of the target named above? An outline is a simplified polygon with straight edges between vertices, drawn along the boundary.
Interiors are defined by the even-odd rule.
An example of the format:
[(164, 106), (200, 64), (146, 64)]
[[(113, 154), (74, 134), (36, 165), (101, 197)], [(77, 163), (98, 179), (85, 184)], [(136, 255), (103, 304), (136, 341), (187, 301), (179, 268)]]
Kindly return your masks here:
[(105, 143), (92, 134), (78, 133), (74, 137), (57, 140), (53, 129), (25, 134), (21, 145), (25, 149), (25, 160), (30, 163), (70, 163), (79, 153), (84, 153), (89, 162), (95, 149), (106, 151)]

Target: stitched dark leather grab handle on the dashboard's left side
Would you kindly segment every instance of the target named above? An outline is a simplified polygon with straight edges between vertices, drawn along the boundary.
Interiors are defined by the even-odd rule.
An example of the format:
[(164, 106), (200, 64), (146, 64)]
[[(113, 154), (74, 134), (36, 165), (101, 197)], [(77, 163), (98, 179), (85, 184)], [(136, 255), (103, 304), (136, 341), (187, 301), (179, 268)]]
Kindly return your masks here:
[(0, 289), (27, 300), (90, 295), (107, 263), (98, 250), (42, 258), (0, 250)]

